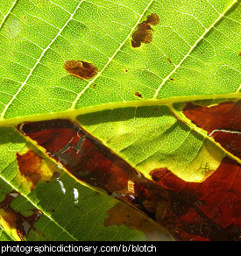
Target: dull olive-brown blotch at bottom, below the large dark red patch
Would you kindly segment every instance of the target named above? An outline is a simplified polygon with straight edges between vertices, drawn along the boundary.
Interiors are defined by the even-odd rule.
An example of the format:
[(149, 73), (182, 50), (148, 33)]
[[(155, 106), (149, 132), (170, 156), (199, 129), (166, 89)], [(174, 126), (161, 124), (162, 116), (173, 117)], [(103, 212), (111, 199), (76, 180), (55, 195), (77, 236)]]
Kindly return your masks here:
[(143, 231), (148, 241), (170, 240), (169, 233), (159, 224), (124, 203), (115, 204), (107, 213), (109, 217), (104, 220), (105, 226), (124, 224), (131, 229)]

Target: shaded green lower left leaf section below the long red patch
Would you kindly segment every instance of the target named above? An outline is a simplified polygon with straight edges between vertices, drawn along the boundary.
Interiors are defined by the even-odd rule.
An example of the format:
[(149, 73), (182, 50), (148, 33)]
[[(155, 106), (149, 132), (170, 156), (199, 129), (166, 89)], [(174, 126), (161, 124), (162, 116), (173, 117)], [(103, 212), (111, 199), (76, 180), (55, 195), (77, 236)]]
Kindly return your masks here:
[[(15, 131), (13, 128), (1, 128), (0, 131), (2, 135), (0, 142), (4, 145), (2, 153), (6, 156), (0, 166), (2, 170), (0, 222), (13, 239), (68, 241), (173, 239), (168, 231), (150, 217), (145, 217), (133, 209), (128, 211), (129, 217), (138, 217), (139, 226), (106, 225), (105, 219), (110, 217), (108, 210), (115, 207), (117, 200), (108, 196), (103, 190), (89, 187), (82, 181), (76, 181), (73, 176), (46, 158), (46, 155), (39, 152), (35, 146), (29, 145)], [(11, 133), (15, 133), (14, 138), (16, 142), (18, 141), (18, 147), (17, 143), (9, 147), (11, 144), (8, 140), (11, 138)], [(6, 139), (3, 140), (3, 138)], [(15, 159), (9, 157), (12, 153), (16, 153)], [(21, 160), (19, 155), (22, 156)], [(33, 184), (30, 179), (30, 185), (23, 180), (22, 175), (25, 174), (23, 160), (26, 155), (31, 155), (35, 160), (38, 159), (35, 161), (37, 168), (31, 164), (32, 160), (28, 163), (31, 164), (29, 167), (31, 173), (35, 173), (39, 178), (39, 168), (46, 171), (48, 167), (50, 178), (38, 179)], [(39, 167), (39, 161), (41, 167)], [(21, 162), (20, 167), (19, 162)], [(27, 180), (30, 178), (26, 174), (25, 177)], [(20, 196), (18, 191), (21, 193)], [(71, 217), (69, 217), (70, 212)], [(146, 228), (141, 230), (140, 227), (143, 224)], [(154, 229), (154, 235), (152, 235), (153, 230), (148, 227)], [(95, 231), (92, 232), (93, 229)], [(101, 236), (98, 235), (100, 233)]]

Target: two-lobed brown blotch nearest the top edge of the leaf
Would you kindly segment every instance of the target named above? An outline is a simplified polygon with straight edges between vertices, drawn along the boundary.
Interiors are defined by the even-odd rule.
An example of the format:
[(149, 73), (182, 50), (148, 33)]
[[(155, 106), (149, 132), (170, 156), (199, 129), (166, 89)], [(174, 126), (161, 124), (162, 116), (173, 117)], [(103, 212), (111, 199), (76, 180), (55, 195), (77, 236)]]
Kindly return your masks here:
[(132, 47), (139, 47), (142, 43), (149, 44), (152, 42), (152, 27), (151, 25), (158, 25), (159, 17), (152, 13), (147, 16), (146, 20), (138, 24), (138, 30), (133, 33), (131, 39)]

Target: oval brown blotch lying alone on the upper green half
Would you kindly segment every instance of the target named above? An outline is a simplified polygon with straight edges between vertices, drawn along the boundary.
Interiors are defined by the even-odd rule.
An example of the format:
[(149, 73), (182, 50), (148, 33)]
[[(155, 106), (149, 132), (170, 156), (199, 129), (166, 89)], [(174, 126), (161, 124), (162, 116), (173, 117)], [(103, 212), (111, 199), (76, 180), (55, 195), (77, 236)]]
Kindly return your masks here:
[(67, 60), (64, 68), (69, 75), (81, 79), (90, 79), (98, 73), (98, 69), (93, 64), (82, 60)]

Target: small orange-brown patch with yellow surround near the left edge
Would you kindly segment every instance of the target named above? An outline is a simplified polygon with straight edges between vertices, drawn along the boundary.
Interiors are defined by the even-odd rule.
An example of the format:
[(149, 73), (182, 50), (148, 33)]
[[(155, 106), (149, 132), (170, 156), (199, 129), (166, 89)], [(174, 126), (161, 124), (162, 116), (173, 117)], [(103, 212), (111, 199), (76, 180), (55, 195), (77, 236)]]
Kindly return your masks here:
[(24, 154), (16, 154), (18, 161), (18, 170), (35, 186), (41, 180), (42, 159), (38, 154), (28, 151)]

